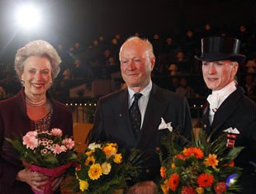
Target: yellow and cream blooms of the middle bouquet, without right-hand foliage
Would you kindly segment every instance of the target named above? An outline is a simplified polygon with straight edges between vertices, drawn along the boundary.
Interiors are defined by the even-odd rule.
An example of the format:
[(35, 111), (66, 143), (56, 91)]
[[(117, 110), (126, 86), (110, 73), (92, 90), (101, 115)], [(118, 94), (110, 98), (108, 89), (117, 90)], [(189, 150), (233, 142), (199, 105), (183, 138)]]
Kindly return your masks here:
[(80, 162), (75, 171), (74, 192), (111, 193), (125, 185), (117, 144), (89, 144)]

